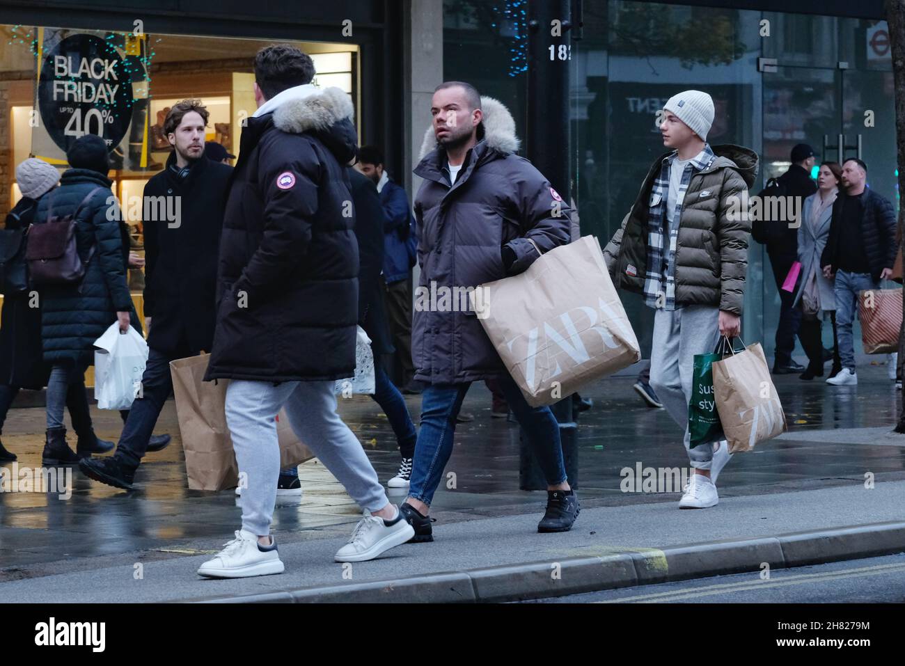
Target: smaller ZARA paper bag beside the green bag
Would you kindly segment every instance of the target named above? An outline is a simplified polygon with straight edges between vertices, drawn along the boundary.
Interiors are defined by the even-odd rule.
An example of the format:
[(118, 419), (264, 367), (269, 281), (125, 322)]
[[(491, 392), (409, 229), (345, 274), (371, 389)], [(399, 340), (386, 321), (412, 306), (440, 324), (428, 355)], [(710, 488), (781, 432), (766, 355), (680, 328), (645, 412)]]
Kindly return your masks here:
[(713, 364), (713, 392), (729, 452), (746, 452), (786, 431), (786, 414), (757, 342)]

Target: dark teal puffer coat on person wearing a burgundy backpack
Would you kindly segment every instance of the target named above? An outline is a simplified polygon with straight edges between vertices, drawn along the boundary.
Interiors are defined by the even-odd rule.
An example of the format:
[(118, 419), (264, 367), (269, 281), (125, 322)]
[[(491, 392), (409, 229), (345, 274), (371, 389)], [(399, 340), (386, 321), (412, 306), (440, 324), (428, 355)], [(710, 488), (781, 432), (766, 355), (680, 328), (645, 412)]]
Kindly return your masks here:
[(40, 290), (44, 360), (54, 365), (92, 365), (94, 341), (116, 321), (117, 312), (130, 312), (133, 327), (141, 330), (126, 281), (129, 247), (123, 241), (124, 223), (110, 182), (97, 171), (69, 169), (63, 173), (60, 186), (38, 202), (33, 224), (47, 222), (51, 203), (54, 217), (74, 214), (85, 195), (95, 187), (101, 188), (89, 205), (82, 207), (76, 226), (76, 246), (82, 261), (94, 247), (84, 279), (78, 285)]

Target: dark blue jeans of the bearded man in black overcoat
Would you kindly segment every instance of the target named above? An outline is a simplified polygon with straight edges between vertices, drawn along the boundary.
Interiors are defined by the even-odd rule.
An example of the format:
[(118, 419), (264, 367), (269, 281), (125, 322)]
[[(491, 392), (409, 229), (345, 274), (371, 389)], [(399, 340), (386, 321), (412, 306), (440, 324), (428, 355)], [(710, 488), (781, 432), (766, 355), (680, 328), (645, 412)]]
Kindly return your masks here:
[(119, 461), (129, 467), (138, 467), (148, 452), (148, 440), (154, 433), (160, 411), (164, 408), (170, 391), (173, 390), (169, 362), (187, 356), (189, 356), (187, 351), (167, 355), (153, 347), (148, 349), (148, 364), (141, 376), (142, 396), (132, 401), (115, 453)]

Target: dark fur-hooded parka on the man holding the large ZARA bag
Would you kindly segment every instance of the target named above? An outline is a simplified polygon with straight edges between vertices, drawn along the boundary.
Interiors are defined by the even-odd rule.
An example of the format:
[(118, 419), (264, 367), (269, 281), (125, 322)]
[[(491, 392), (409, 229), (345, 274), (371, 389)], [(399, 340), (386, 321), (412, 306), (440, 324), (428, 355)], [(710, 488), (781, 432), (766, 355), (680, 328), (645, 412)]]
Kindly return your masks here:
[[(466, 154), (454, 186), (433, 128), (425, 134), (424, 158), (414, 169), (424, 183), (414, 203), (421, 278), (415, 290), (412, 360), (414, 378), (428, 384), (506, 375), (481, 321), (467, 300), (462, 303), (462, 289), (527, 270), (540, 256), (532, 243), (548, 252), (569, 242), (572, 209), (537, 168), (514, 154), (519, 139), (509, 109), (487, 97), (481, 98), (481, 109), (480, 140)], [(554, 204), (560, 206), (557, 217)], [(509, 271), (501, 256), (504, 246), (515, 260)], [(446, 299), (448, 307), (438, 291), (443, 288), (459, 294)], [(433, 304), (432, 291), (440, 293)]]

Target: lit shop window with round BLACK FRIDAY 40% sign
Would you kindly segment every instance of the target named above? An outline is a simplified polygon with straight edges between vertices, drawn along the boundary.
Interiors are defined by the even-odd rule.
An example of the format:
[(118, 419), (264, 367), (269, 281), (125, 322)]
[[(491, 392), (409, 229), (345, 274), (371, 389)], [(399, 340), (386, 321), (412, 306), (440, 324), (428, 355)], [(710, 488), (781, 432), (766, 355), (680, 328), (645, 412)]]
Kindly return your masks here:
[[(66, 148), (93, 133), (110, 149), (111, 189), (129, 224), (130, 249), (142, 256), (143, 189), (171, 152), (167, 111), (179, 100), (202, 100), (210, 112), (205, 139), (238, 157), (243, 119), (256, 109), (254, 54), (273, 42), (0, 25), (0, 209), (21, 198), (16, 165), (34, 156), (65, 169)], [(350, 95), (360, 136), (357, 44), (292, 43), (314, 61), (315, 85)], [(129, 288), (140, 317), (141, 269), (129, 270)]]

